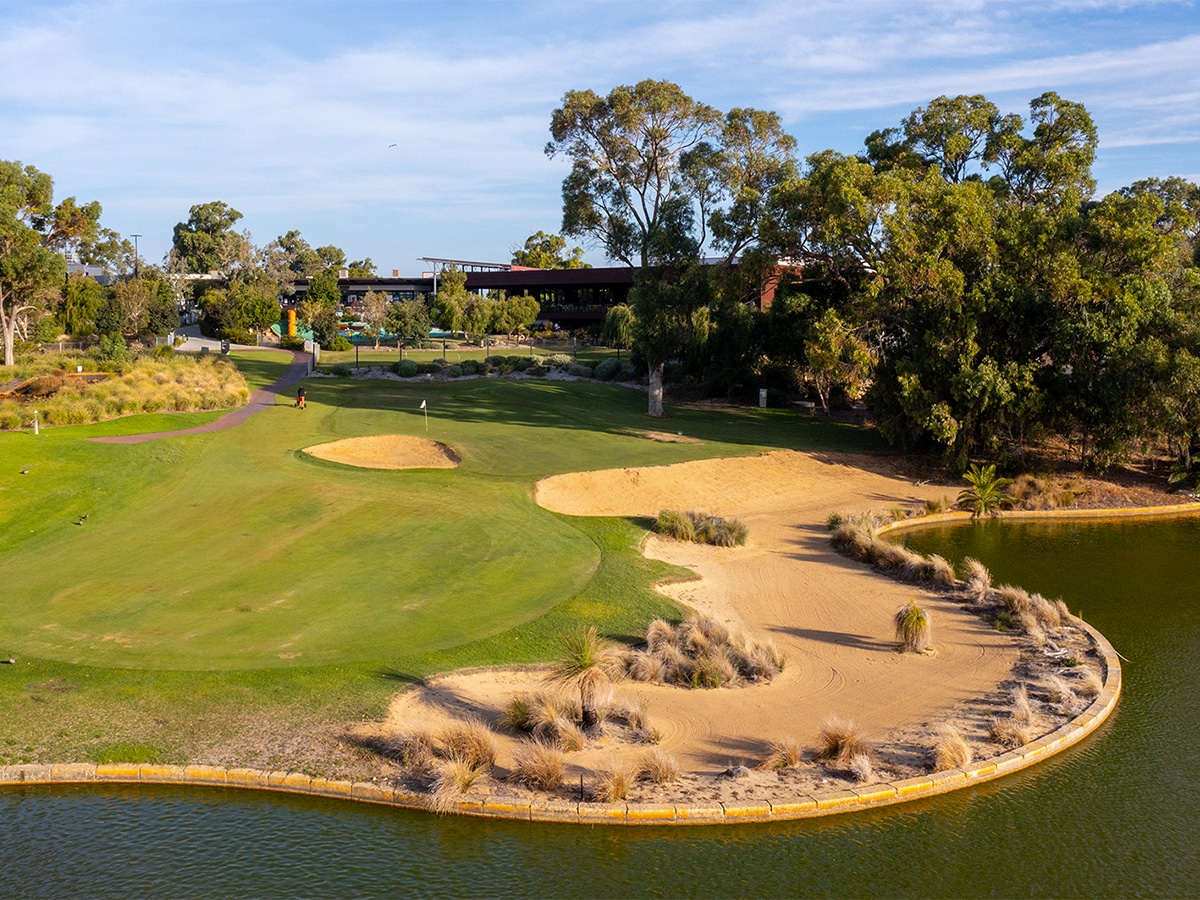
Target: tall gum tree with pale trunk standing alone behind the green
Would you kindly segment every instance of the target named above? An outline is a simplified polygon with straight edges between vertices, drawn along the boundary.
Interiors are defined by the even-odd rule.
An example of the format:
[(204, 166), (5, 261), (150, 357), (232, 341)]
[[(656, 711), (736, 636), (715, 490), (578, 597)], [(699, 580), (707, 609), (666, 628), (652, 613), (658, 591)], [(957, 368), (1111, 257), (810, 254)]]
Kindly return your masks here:
[[(764, 199), (792, 174), (794, 142), (773, 113), (727, 116), (671, 82), (568, 91), (546, 154), (565, 156), (563, 230), (604, 247), (635, 274), (637, 343), (649, 368), (650, 415), (662, 415), (662, 372), (707, 302), (700, 253), (712, 228), (732, 259), (758, 233)], [(680, 344), (680, 341), (684, 343)]]

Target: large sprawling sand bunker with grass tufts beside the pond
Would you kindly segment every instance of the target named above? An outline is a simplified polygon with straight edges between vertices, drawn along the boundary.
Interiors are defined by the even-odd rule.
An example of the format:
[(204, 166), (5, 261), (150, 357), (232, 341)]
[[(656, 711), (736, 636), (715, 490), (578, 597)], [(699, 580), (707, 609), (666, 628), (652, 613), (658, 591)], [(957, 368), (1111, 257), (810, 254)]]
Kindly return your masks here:
[[(685, 770), (754, 764), (767, 755), (768, 742), (788, 736), (815, 746), (830, 715), (857, 721), (871, 739), (928, 732), (1009, 677), (1019, 659), (1010, 637), (944, 595), (889, 581), (832, 548), (830, 512), (919, 505), (954, 490), (865, 468), (878, 464), (868, 457), (775, 451), (556, 475), (538, 484), (538, 503), (568, 515), (654, 516), (676, 508), (737, 516), (749, 526), (743, 547), (658, 536), (644, 547), (647, 556), (700, 576), (664, 593), (756, 641), (773, 641), (788, 660), (775, 682), (740, 689), (616, 686), (619, 695), (646, 703), (662, 732), (662, 749)], [(913, 598), (934, 619), (931, 655), (896, 652), (892, 617)], [(397, 697), (379, 725), (402, 731), (468, 714), (496, 722), (515, 694), (541, 686), (536, 671), (455, 672)], [(913, 764), (923, 764), (923, 750), (904, 744), (913, 746)], [(502, 766), (511, 764), (512, 748), (512, 739), (502, 740)], [(593, 756), (612, 752), (620, 750), (601, 745), (571, 754), (572, 773), (594, 764)]]

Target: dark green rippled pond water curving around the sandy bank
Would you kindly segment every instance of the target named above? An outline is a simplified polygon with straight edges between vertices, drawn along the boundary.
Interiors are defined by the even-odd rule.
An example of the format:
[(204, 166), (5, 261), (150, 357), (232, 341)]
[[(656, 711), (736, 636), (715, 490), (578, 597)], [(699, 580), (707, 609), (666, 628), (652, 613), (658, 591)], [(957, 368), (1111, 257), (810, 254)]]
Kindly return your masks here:
[(1128, 659), (1109, 722), (989, 785), (774, 826), (578, 828), (220, 788), (5, 790), (0, 895), (1200, 895), (1200, 522), (904, 539), (976, 556), (996, 583), (1081, 611)]

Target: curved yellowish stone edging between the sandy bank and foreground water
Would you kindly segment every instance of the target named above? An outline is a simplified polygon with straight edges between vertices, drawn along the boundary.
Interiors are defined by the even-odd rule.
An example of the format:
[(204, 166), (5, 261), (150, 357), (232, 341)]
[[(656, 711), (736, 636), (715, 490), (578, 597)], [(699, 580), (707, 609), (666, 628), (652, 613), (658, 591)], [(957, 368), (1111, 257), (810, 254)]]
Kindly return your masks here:
[[(1104, 688), (1080, 715), (1056, 731), (1000, 756), (979, 760), (966, 768), (937, 772), (890, 784), (847, 787), (832, 793), (798, 794), (778, 802), (707, 805), (650, 803), (572, 803), (569, 800), (516, 800), (505, 797), (463, 799), (450, 811), (468, 816), (515, 818), (576, 824), (718, 824), (782, 822), (828, 816), (852, 810), (888, 806), (955, 791), (1009, 775), (1066, 750), (1096, 731), (1109, 718), (1121, 695), (1121, 661), (1104, 636), (1085, 622), (1082, 628), (1104, 664)], [(283, 791), (317, 797), (361, 800), (406, 809), (428, 810), (426, 794), (392, 790), (374, 782), (330, 781), (296, 772), (226, 768), (223, 766), (158, 766), (154, 763), (64, 763), (48, 766), (0, 766), (0, 786), (46, 784), (142, 784), (203, 785)]]

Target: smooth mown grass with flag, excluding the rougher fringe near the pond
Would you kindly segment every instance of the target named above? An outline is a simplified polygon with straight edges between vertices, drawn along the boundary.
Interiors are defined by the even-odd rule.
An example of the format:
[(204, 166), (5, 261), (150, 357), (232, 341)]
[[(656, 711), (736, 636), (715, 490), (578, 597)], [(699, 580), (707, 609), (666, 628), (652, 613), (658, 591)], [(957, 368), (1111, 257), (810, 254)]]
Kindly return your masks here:
[[(241, 362), (256, 382), (282, 371), (278, 358)], [(533, 503), (542, 475), (868, 440), (767, 410), (680, 410), (667, 425), (701, 443), (658, 443), (641, 436), (643, 394), (590, 383), (307, 385), (308, 409), (281, 397), (210, 434), (86, 440), (113, 431), (100, 425), (0, 438), (0, 649), (152, 670), (445, 650), (542, 616), (598, 570), (596, 540)], [(462, 464), (368, 470), (300, 451), (384, 433), (444, 442)]]

